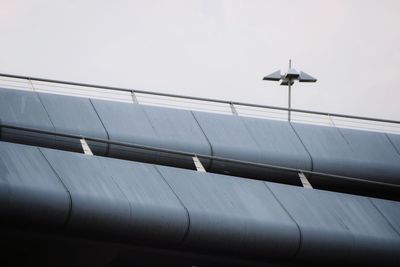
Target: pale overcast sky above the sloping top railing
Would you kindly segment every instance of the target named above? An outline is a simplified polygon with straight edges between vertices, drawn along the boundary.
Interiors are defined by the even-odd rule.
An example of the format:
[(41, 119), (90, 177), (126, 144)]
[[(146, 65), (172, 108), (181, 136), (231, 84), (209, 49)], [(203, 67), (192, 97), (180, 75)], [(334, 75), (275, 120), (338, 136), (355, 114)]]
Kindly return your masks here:
[(0, 0), (0, 72), (400, 120), (398, 0)]

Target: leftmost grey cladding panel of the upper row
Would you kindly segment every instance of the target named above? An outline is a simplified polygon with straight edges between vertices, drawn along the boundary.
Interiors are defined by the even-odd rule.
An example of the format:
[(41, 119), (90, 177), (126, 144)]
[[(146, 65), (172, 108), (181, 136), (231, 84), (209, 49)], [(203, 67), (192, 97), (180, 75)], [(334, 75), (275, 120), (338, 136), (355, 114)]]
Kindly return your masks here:
[[(34, 92), (0, 88), (0, 122), (20, 127), (55, 131), (39, 97)], [(55, 137), (14, 129), (0, 129), (5, 141), (53, 147)]]

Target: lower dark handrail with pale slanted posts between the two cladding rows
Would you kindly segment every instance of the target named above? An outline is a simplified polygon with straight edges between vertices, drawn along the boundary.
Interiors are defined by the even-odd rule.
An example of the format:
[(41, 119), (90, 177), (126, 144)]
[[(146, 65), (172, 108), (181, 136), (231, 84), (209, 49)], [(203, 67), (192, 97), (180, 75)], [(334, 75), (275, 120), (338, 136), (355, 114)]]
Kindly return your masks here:
[[(270, 164), (265, 164), (265, 163), (257, 163), (257, 162), (251, 162), (251, 161), (243, 161), (243, 160), (237, 160), (237, 159), (231, 159), (231, 158), (225, 158), (225, 157), (209, 156), (209, 155), (204, 155), (204, 154), (197, 154), (197, 153), (190, 152), (190, 151), (173, 150), (173, 149), (166, 149), (166, 148), (160, 148), (160, 147), (154, 147), (154, 146), (140, 145), (140, 144), (135, 144), (135, 143), (113, 141), (113, 140), (95, 138), (95, 137), (84, 136), (84, 135), (69, 134), (69, 133), (65, 133), (65, 132), (48, 131), (48, 130), (42, 130), (42, 129), (38, 129), (38, 128), (30, 128), (30, 127), (20, 127), (20, 126), (15, 126), (15, 125), (10, 125), (10, 124), (1, 124), (0, 123), (0, 129), (1, 128), (14, 129), (14, 130), (19, 130), (19, 131), (25, 131), (25, 132), (29, 132), (29, 133), (38, 133), (38, 134), (44, 134), (44, 135), (54, 135), (54, 136), (79, 140), (82, 143), (82, 152), (87, 153), (87, 150), (89, 150), (89, 153), (87, 153), (89, 155), (93, 155), (93, 154), (90, 150), (90, 147), (88, 147), (88, 144), (86, 141), (103, 143), (103, 144), (107, 144), (107, 145), (117, 145), (117, 146), (126, 147), (126, 148), (135, 148), (135, 149), (142, 149), (142, 150), (148, 150), (148, 151), (169, 153), (169, 154), (178, 155), (178, 156), (187, 156), (187, 157), (190, 157), (191, 159), (193, 159), (193, 161), (192, 161), (193, 167), (194, 167), (194, 169), (197, 169), (198, 171), (206, 171), (206, 172), (209, 171), (209, 170), (206, 170), (201, 165), (201, 163), (199, 163), (198, 159), (206, 159), (206, 160), (220, 161), (220, 162), (225, 162), (225, 163), (241, 164), (241, 165), (246, 165), (246, 166), (252, 166), (252, 167), (257, 167), (257, 168), (265, 168), (265, 169), (269, 169), (269, 170), (279, 171), (282, 173), (294, 174), (294, 177), (297, 176), (298, 183), (302, 184), (304, 187), (307, 187), (307, 188), (314, 187), (314, 188), (325, 189), (325, 190), (330, 190), (330, 191), (338, 191), (338, 192), (353, 193), (353, 194), (359, 194), (359, 195), (365, 195), (365, 196), (380, 197), (380, 198), (386, 198), (386, 199), (393, 199), (393, 200), (397, 200), (397, 201), (400, 200), (400, 185), (398, 185), (398, 184), (377, 182), (377, 181), (365, 180), (365, 179), (349, 177), (349, 176), (342, 176), (342, 175), (323, 173), (323, 172), (315, 172), (315, 171), (310, 171), (310, 170), (296, 169), (296, 168), (290, 168), (290, 167), (284, 167), (284, 166), (278, 166), (278, 165), (270, 165)], [(157, 164), (158, 162), (154, 161), (151, 163)], [(199, 164), (201, 166), (200, 168), (198, 166)], [(268, 178), (266, 178), (266, 180), (268, 180)], [(276, 182), (276, 179), (274, 179), (273, 181)], [(321, 183), (321, 181), (323, 183)], [(285, 183), (285, 181), (282, 181), (282, 183)], [(327, 185), (323, 185), (325, 183), (327, 183)], [(338, 185), (338, 183), (339, 183), (339, 185)]]

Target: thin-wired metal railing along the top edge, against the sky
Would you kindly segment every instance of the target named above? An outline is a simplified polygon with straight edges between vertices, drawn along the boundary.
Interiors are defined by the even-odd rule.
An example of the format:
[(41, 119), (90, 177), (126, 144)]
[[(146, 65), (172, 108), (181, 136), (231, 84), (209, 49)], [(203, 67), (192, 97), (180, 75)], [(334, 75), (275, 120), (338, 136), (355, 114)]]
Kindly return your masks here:
[(0, 86), (106, 100), (400, 134), (400, 121), (0, 73)]

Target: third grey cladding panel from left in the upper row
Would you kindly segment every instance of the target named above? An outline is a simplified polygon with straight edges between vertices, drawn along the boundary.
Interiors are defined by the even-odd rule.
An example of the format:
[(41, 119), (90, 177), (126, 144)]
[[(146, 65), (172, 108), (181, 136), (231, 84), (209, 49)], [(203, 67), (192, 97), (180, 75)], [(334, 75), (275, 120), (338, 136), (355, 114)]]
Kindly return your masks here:
[[(91, 99), (110, 140), (159, 147), (153, 126), (141, 105)], [(117, 158), (154, 162), (157, 153), (110, 145), (109, 155)]]

